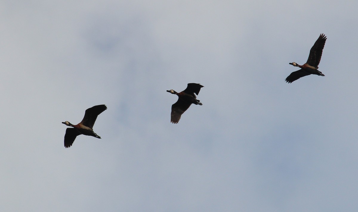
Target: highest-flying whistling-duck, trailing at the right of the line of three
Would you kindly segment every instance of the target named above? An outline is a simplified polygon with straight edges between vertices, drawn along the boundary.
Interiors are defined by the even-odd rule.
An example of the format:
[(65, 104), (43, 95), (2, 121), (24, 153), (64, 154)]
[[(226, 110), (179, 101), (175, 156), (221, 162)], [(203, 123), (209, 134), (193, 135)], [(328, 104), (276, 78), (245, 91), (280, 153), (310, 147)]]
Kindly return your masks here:
[(292, 72), (290, 76), (286, 78), (286, 82), (291, 83), (295, 80), (298, 80), (301, 77), (316, 74), (319, 76), (324, 76), (324, 74), (318, 71), (318, 64), (321, 61), (322, 51), (324, 44), (326, 43), (327, 37), (324, 34), (320, 34), (319, 38), (314, 43), (313, 47), (310, 50), (310, 55), (308, 56), (308, 60), (305, 64), (300, 66), (299, 64), (293, 62), (289, 63), (292, 66), (300, 67), (301, 69), (295, 72)]

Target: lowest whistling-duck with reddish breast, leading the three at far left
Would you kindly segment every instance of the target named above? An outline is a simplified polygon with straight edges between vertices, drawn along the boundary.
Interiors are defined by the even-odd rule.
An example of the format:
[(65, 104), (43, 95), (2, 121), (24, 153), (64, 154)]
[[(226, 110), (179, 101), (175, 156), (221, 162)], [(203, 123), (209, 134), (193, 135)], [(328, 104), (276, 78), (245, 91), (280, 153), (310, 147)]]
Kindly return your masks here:
[(91, 108), (88, 108), (84, 113), (84, 117), (81, 122), (77, 125), (73, 125), (68, 121), (62, 122), (62, 124), (66, 124), (67, 126), (74, 128), (67, 128), (64, 145), (66, 148), (72, 146), (74, 139), (76, 139), (77, 135), (90, 135), (96, 138), (101, 138), (95, 132), (93, 132), (93, 125), (97, 119), (97, 116), (101, 114), (101, 112), (107, 109), (106, 105), (96, 105)]

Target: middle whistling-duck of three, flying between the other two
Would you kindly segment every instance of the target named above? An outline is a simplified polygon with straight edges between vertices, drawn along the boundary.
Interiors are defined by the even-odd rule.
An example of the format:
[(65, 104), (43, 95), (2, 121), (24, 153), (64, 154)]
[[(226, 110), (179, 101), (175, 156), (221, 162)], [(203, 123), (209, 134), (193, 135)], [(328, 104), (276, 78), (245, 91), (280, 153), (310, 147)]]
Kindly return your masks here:
[(194, 93), (197, 95), (199, 94), (200, 88), (204, 86), (197, 84), (197, 83), (188, 83), (188, 87), (185, 88), (184, 91), (177, 93), (174, 90), (169, 90), (167, 92), (176, 94), (179, 98), (178, 101), (176, 101), (171, 106), (171, 118), (170, 122), (173, 124), (178, 124), (180, 120), (180, 116), (188, 110), (191, 104), (195, 105), (203, 105), (200, 100), (197, 100), (197, 97)]

